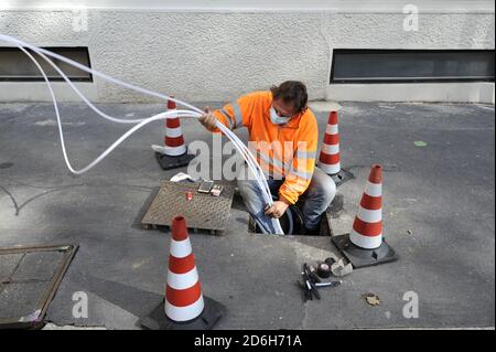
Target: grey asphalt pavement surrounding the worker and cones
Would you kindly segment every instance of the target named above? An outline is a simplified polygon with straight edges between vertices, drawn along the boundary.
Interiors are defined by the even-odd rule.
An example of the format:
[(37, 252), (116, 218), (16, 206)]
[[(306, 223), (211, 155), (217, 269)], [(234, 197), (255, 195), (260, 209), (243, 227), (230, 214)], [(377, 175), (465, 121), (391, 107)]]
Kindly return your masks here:
[[(129, 118), (163, 108), (100, 107)], [(84, 105), (61, 110), (75, 168), (129, 128)], [(316, 115), (322, 142), (327, 114)], [(355, 270), (341, 287), (321, 289), (321, 301), (303, 305), (300, 266), (326, 258), (330, 239), (248, 234), (248, 215), (235, 202), (225, 236), (191, 236), (204, 295), (228, 308), (217, 328), (494, 327), (494, 106), (343, 104), (339, 119), (343, 166), (356, 179), (338, 189), (344, 210), (334, 232), (349, 232), (369, 167), (379, 162), (385, 235), (400, 260)], [(162, 171), (150, 149), (162, 140), (161, 126), (144, 127), (74, 177), (62, 158), (52, 105), (0, 105), (0, 247), (80, 245), (48, 309), (56, 326), (139, 329), (138, 319), (162, 298), (170, 234), (139, 226), (160, 181), (181, 171)], [(183, 129), (188, 141), (212, 142), (195, 120), (183, 120)], [(246, 140), (245, 131), (238, 136)], [(88, 295), (87, 319), (72, 316), (76, 291)], [(418, 319), (403, 318), (407, 291), (419, 295)], [(367, 292), (381, 305), (368, 306)]]

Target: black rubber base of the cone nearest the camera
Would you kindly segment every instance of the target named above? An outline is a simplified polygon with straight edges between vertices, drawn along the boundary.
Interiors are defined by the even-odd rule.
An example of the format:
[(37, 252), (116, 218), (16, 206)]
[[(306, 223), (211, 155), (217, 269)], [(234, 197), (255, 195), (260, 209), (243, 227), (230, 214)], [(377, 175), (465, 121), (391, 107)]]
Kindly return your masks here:
[(165, 302), (161, 301), (150, 314), (140, 320), (140, 324), (149, 330), (211, 330), (225, 314), (226, 308), (212, 298), (204, 296), (203, 299), (205, 308), (196, 319), (172, 321), (165, 316)]

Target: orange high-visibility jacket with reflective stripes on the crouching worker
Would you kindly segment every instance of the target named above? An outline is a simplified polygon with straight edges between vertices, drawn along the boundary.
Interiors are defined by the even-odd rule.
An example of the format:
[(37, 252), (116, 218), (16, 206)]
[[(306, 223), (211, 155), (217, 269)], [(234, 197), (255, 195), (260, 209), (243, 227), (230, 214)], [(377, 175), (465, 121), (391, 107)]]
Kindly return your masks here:
[[(256, 146), (257, 161), (263, 171), (284, 178), (279, 199), (294, 204), (308, 189), (315, 168), (317, 124), (306, 109), (285, 125), (274, 125), (270, 120), (271, 106), (271, 92), (255, 92), (215, 110), (214, 115), (231, 130), (241, 126), (248, 129), (249, 145)], [(217, 128), (212, 131), (219, 132)]]

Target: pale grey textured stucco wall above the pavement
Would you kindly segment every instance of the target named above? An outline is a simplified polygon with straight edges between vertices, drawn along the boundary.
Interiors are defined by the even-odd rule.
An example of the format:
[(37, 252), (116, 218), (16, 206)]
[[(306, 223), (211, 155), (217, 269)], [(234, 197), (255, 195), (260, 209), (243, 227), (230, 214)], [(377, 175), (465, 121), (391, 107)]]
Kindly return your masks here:
[[(403, 20), (402, 13), (89, 10), (88, 30), (75, 32), (72, 11), (3, 11), (0, 33), (36, 45), (88, 46), (95, 70), (190, 102), (229, 100), (289, 78), (323, 99), (335, 47), (495, 47), (494, 13), (421, 13), (418, 32), (403, 31)], [(151, 102), (100, 79), (95, 89), (99, 102)]]

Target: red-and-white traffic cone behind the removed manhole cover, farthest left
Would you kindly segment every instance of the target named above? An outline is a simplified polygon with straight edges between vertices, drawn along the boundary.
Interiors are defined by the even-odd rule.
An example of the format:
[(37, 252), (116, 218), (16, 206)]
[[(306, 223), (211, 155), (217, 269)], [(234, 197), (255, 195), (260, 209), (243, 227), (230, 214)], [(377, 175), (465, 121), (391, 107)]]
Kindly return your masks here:
[[(175, 102), (168, 100), (168, 111), (174, 110), (176, 110)], [(152, 146), (160, 167), (169, 170), (187, 166), (194, 156), (187, 153), (179, 116), (170, 116), (165, 119), (164, 127), (163, 147)]]

